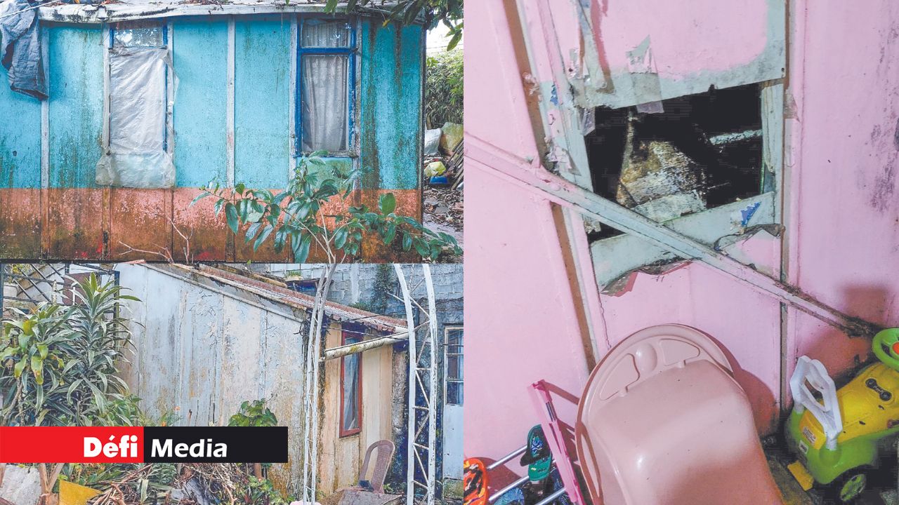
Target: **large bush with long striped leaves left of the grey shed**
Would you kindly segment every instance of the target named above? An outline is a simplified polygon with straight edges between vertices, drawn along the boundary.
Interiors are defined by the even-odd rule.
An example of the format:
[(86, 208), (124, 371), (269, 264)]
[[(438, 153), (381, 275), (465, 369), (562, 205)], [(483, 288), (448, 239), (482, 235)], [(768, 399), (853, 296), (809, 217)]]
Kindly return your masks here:
[(117, 376), (126, 360), (129, 321), (121, 293), (91, 275), (74, 286), (73, 306), (13, 309), (0, 338), (0, 421), (4, 425), (132, 424), (136, 399)]

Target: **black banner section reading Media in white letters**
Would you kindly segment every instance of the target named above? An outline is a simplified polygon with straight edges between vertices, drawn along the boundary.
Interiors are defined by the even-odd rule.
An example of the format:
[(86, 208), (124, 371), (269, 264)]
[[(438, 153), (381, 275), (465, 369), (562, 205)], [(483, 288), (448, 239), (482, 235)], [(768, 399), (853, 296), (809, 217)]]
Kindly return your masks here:
[(287, 463), (286, 426), (146, 427), (143, 442), (147, 463)]

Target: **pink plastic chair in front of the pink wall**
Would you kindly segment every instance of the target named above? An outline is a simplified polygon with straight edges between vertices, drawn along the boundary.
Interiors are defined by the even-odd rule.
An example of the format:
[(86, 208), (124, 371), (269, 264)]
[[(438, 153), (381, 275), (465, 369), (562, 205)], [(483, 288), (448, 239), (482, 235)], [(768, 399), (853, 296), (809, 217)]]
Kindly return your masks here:
[(594, 502), (783, 503), (724, 352), (687, 326), (636, 332), (602, 359), (575, 439)]

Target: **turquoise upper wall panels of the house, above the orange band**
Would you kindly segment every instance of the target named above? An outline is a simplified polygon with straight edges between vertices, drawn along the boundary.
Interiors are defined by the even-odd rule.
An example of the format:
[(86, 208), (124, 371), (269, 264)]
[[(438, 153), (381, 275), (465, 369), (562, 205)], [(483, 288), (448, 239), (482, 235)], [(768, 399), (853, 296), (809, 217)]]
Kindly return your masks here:
[[(287, 182), (291, 31), (289, 14), (242, 16), (235, 31), (235, 181)], [(368, 189), (419, 187), (423, 31), (362, 20), (360, 168)], [(49, 187), (93, 188), (102, 155), (103, 52), (100, 25), (47, 23)], [(227, 20), (174, 20), (174, 161), (177, 186), (195, 188), (227, 167)], [(0, 71), (0, 77), (5, 72)], [(4, 80), (4, 79), (3, 79)], [(0, 90), (0, 187), (40, 187), (40, 102)], [(13, 151), (15, 154), (13, 155)], [(341, 162), (345, 164), (346, 162)]]

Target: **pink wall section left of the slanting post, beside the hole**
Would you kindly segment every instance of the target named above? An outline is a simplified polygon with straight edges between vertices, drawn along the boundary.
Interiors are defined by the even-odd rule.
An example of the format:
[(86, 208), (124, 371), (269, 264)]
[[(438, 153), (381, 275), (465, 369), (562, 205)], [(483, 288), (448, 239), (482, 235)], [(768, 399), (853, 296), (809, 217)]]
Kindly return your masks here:
[[(467, 20), (477, 20), (466, 32), (466, 86), (479, 88), (466, 93), (467, 134), (536, 155), (502, 5), (469, 2), (466, 9)], [(505, 63), (469, 56), (485, 48)], [(473, 336), (466, 350), (465, 452), (490, 460), (523, 446), (539, 422), (532, 382), (546, 378), (576, 402), (590, 370), (565, 270), (547, 267), (562, 262), (549, 204), (484, 167), (468, 166), (466, 212), (477, 218), (465, 226), (465, 240), (474, 241), (467, 243), (465, 281), (475, 286), (466, 291), (465, 325)], [(576, 403), (560, 404), (559, 411), (570, 420)], [(475, 443), (468, 433), (476, 434)]]

